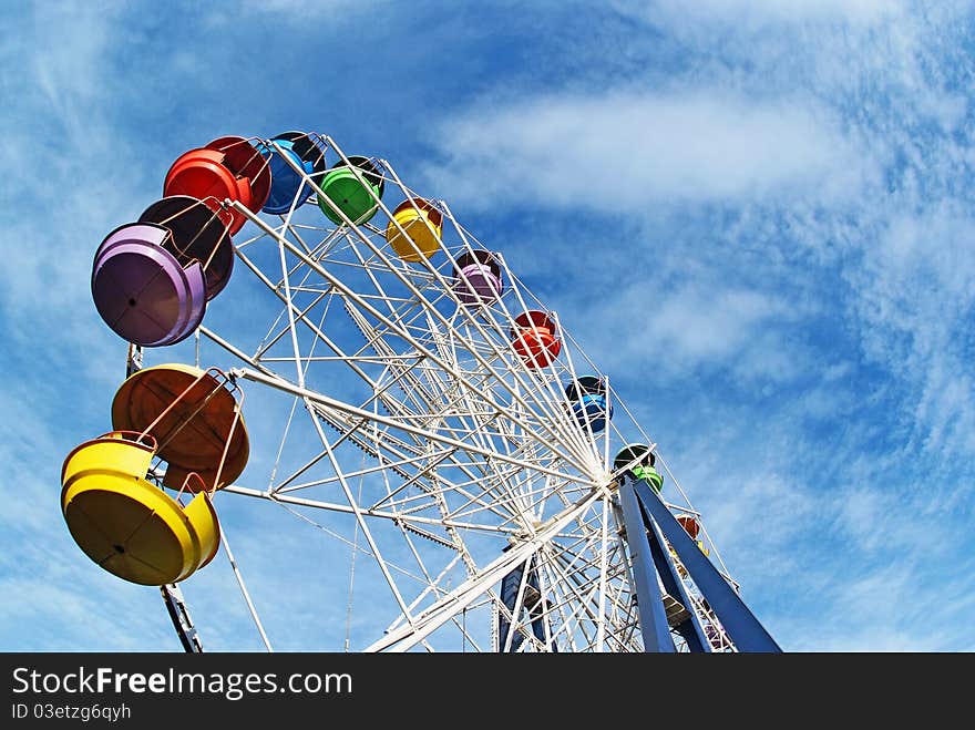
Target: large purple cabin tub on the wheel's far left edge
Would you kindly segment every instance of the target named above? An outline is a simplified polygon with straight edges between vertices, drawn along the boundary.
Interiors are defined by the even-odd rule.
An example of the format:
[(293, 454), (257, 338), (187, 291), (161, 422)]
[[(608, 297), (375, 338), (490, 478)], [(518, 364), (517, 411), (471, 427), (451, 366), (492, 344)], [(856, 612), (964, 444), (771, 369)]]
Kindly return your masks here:
[(95, 251), (95, 308), (119, 337), (143, 347), (175, 345), (203, 321), (206, 279), (199, 261), (181, 265), (167, 248), (168, 228), (127, 223)]

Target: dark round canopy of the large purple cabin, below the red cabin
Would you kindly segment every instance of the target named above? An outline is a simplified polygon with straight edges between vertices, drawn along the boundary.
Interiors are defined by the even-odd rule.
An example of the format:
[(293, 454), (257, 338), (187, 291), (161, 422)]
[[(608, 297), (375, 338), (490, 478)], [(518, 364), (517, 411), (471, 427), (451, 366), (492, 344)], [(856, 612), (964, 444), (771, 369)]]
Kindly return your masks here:
[(138, 222), (170, 229), (172, 237), (163, 243), (163, 248), (181, 265), (186, 266), (193, 260), (202, 263), (207, 301), (224, 290), (234, 271), (232, 216), (214, 198), (164, 197), (143, 210)]

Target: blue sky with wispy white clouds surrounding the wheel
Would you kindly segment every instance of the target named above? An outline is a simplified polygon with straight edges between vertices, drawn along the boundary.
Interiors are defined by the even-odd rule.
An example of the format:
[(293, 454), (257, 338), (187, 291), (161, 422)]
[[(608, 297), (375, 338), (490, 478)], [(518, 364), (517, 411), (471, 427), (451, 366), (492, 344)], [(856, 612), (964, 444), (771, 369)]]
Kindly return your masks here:
[[(4, 13), (0, 647), (178, 649), (59, 514), (123, 374), (91, 257), (185, 150), (300, 128), (449, 198), (558, 309), (783, 648), (975, 650), (969, 3), (211, 6)], [(299, 620), (345, 620), (345, 579)], [(217, 595), (205, 642), (258, 648)]]

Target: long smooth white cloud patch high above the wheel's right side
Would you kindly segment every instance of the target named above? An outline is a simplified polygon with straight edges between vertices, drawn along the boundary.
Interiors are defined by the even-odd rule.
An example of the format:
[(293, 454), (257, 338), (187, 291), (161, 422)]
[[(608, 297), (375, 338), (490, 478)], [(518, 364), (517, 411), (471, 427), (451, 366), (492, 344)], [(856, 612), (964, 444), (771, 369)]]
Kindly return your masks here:
[(822, 107), (725, 90), (613, 89), (485, 102), (438, 130), (431, 184), (471, 205), (617, 215), (687, 201), (849, 194), (869, 161)]

